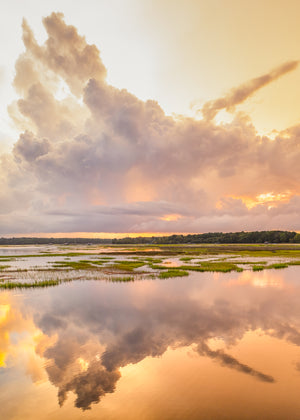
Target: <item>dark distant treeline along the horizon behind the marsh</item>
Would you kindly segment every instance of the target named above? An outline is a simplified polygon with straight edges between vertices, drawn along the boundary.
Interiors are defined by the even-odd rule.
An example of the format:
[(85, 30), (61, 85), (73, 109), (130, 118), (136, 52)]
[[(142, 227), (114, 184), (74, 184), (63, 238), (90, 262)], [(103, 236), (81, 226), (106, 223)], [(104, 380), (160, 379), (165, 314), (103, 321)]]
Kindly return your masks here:
[(193, 235), (169, 235), (122, 239), (101, 238), (0, 238), (0, 245), (69, 244), (262, 244), (300, 243), (300, 234), (283, 230), (258, 232), (212, 232)]

